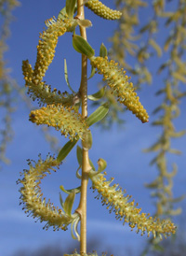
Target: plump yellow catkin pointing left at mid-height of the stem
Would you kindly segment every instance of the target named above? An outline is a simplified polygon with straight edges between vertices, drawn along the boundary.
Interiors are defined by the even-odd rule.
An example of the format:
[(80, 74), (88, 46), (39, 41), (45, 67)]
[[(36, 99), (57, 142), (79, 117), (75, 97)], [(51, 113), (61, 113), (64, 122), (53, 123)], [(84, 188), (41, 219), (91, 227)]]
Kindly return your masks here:
[(60, 130), (62, 135), (68, 136), (71, 140), (81, 138), (84, 140), (87, 125), (82, 116), (73, 110), (73, 107), (61, 105), (47, 105), (40, 109), (31, 111), (30, 121), (39, 124), (53, 126)]

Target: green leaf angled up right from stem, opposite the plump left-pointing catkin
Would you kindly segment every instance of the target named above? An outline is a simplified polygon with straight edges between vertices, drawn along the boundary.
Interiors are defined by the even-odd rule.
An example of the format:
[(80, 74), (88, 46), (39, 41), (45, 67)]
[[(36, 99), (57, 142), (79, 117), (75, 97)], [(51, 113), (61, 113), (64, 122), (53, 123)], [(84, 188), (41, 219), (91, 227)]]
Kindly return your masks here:
[(100, 107), (98, 107), (87, 119), (86, 119), (86, 123), (88, 126), (91, 126), (92, 124), (94, 124), (95, 122), (98, 122), (100, 120), (102, 120), (107, 113), (109, 112), (109, 104), (108, 103), (104, 103), (103, 105), (101, 105)]

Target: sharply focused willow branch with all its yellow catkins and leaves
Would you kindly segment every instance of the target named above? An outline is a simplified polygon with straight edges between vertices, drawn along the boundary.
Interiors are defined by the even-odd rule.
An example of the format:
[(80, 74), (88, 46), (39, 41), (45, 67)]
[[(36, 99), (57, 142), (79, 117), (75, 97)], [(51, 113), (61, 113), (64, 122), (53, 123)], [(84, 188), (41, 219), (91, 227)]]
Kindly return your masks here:
[[(98, 10), (96, 4), (99, 5), (100, 10)], [(119, 16), (116, 18), (117, 15), (121, 15), (120, 12), (113, 11), (96, 0), (86, 1), (85, 5), (104, 19), (113, 19), (114, 15), (114, 19), (118, 19)], [(139, 5), (142, 5), (141, 1), (139, 1)], [(74, 16), (76, 10), (77, 14)], [(166, 237), (166, 235), (175, 234), (176, 231), (176, 226), (170, 220), (155, 220), (149, 214), (140, 213), (141, 209), (137, 207), (138, 204), (135, 206), (134, 201), (128, 202), (130, 197), (126, 196), (125, 192), (122, 192), (116, 185), (110, 186), (112, 180), (106, 181), (105, 174), (101, 174), (106, 168), (104, 160), (99, 161), (98, 171), (95, 170), (94, 164), (89, 160), (88, 150), (92, 147), (90, 126), (101, 121), (108, 114), (109, 103), (108, 101), (103, 102), (91, 115), (88, 115), (87, 98), (98, 101), (103, 99), (105, 91), (111, 90), (115, 100), (125, 105), (140, 121), (147, 122), (149, 120), (147, 111), (142, 107), (133, 83), (129, 82), (129, 78), (126, 76), (126, 71), (119, 68), (113, 60), (108, 61), (107, 50), (103, 45), (100, 48), (100, 56), (95, 56), (95, 51), (86, 40), (86, 27), (90, 24), (91, 21), (85, 20), (84, 17), (83, 0), (67, 0), (66, 7), (60, 11), (59, 18), (46, 21), (47, 28), (40, 35), (34, 69), (28, 60), (23, 61), (22, 64), (25, 86), (28, 88), (28, 92), (33, 100), (37, 99), (39, 105), (46, 104), (46, 107), (31, 111), (30, 121), (37, 125), (46, 124), (54, 127), (57, 131), (60, 131), (61, 135), (68, 136), (69, 141), (60, 149), (56, 159), (48, 155), (45, 161), (40, 157), (38, 162), (33, 162), (34, 164), (29, 162), (29, 170), (24, 170), (23, 178), (19, 179), (19, 183), (22, 185), (20, 200), (24, 204), (25, 212), (30, 212), (33, 218), (46, 222), (46, 229), (53, 226), (54, 230), (66, 230), (68, 225), (71, 224), (73, 238), (75, 238), (74, 230), (76, 238), (80, 240), (81, 255), (86, 255), (86, 188), (88, 178), (92, 180), (93, 189), (100, 193), (102, 203), (107, 205), (110, 211), (114, 208), (117, 219), (128, 222), (132, 229), (137, 227), (137, 233), (141, 231), (143, 235), (147, 232), (148, 236), (153, 234), (154, 238), (156, 236), (162, 238), (162, 235)], [(81, 36), (75, 34), (76, 26), (80, 26)], [(73, 33), (73, 48), (82, 54), (82, 78), (78, 92), (72, 90), (67, 72), (65, 74), (67, 84), (73, 91), (72, 94), (68, 94), (68, 92), (60, 93), (57, 89), (52, 91), (51, 87), (43, 81), (46, 69), (54, 58), (58, 38), (66, 32)], [(97, 70), (108, 85), (108, 87), (102, 88), (92, 95), (87, 95), (87, 58), (90, 60), (92, 67), (90, 78)], [(82, 107), (82, 113), (80, 113), (79, 107)], [(68, 196), (65, 202), (60, 197), (62, 208), (59, 209), (49, 201), (46, 203), (46, 199), (42, 198), (43, 194), (39, 187), (40, 180), (46, 174), (50, 174), (50, 170), (54, 170), (55, 166), (59, 166), (79, 139), (82, 142), (82, 148), (77, 146), (79, 168), (76, 171), (76, 177), (81, 179), (81, 186), (71, 190), (65, 190), (63, 186), (60, 186), (62, 192), (67, 193)], [(81, 175), (79, 169), (82, 169)], [(79, 206), (72, 214), (75, 194), (78, 192), (80, 192)], [(81, 222), (80, 235), (77, 232), (79, 221)]]

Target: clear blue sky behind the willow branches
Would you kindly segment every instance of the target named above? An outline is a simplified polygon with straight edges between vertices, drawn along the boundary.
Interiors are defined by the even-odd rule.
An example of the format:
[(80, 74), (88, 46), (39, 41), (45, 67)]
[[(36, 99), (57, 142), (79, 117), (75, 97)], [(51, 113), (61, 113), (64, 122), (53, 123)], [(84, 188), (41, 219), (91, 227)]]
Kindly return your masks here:
[[(58, 16), (60, 9), (64, 6), (64, 1), (56, 0), (33, 0), (20, 1), (21, 6), (14, 11), (15, 21), (11, 24), (11, 37), (7, 43), (8, 65), (11, 66), (11, 75), (20, 86), (24, 85), (21, 74), (22, 60), (29, 59), (34, 64), (36, 58), (36, 45), (39, 33), (43, 31), (44, 21), (52, 16)], [(113, 1), (112, 1), (113, 2)], [(113, 4), (110, 5), (112, 7)], [(147, 18), (149, 14), (146, 14)], [(116, 27), (115, 21), (104, 21), (86, 9), (88, 17), (93, 27), (87, 29), (87, 39), (99, 55), (100, 44), (104, 42), (109, 49), (111, 43), (108, 38), (112, 36)], [(145, 17), (146, 18), (146, 17)], [(63, 76), (63, 59), (67, 59), (69, 78), (74, 88), (80, 82), (80, 54), (73, 50), (72, 35), (62, 36), (56, 51), (54, 62), (46, 73), (46, 82), (52, 84), (60, 91), (67, 90)], [(151, 63), (151, 67), (153, 68)], [(154, 64), (155, 65), (155, 64)], [(97, 92), (97, 84), (100, 76), (95, 76), (89, 81), (88, 92)], [(158, 102), (154, 96), (162, 84), (158, 78), (154, 78), (153, 85), (144, 85), (139, 93), (142, 104), (147, 108), (150, 117)], [(11, 164), (4, 165), (0, 172), (0, 255), (11, 256), (18, 249), (37, 249), (47, 244), (60, 244), (72, 241), (70, 231), (53, 232), (43, 231), (43, 225), (34, 223), (32, 218), (27, 218), (19, 206), (20, 192), (16, 180), (22, 169), (27, 168), (26, 159), (38, 159), (41, 153), (45, 159), (48, 151), (51, 151), (40, 129), (28, 121), (29, 110), (23, 102), (17, 101), (17, 111), (13, 115), (13, 129), (15, 132), (13, 141), (8, 145), (7, 157)], [(35, 104), (35, 107), (36, 104)], [(181, 117), (176, 121), (178, 131), (183, 129), (186, 121), (186, 104), (181, 105)], [(91, 110), (90, 110), (91, 112)], [(119, 183), (128, 194), (131, 194), (136, 202), (142, 207), (142, 211), (153, 214), (153, 204), (150, 191), (145, 189), (143, 184), (150, 182), (156, 177), (156, 169), (150, 167), (149, 163), (153, 158), (152, 154), (144, 154), (141, 149), (148, 148), (160, 135), (160, 130), (149, 123), (142, 124), (134, 115), (127, 112), (125, 114), (125, 129), (118, 129), (115, 125), (111, 131), (102, 131), (93, 127), (93, 147), (90, 150), (90, 158), (96, 165), (99, 158), (107, 161), (108, 177), (114, 177), (114, 182)], [(152, 117), (153, 120), (153, 117)], [(58, 133), (61, 147), (66, 140)], [(173, 145), (182, 150), (181, 157), (171, 157), (172, 162), (179, 165), (179, 174), (174, 179), (174, 194), (179, 196), (185, 192), (185, 158), (186, 158), (186, 137), (182, 137), (178, 142), (173, 141)], [(60, 185), (65, 188), (72, 188), (79, 185), (79, 180), (75, 179), (75, 171), (78, 167), (75, 158), (75, 149), (66, 158), (60, 167), (60, 171), (42, 182), (42, 189), (45, 196), (51, 198), (56, 206), (60, 205), (59, 192)], [(90, 185), (90, 183), (89, 183)], [(76, 203), (76, 205), (78, 202)], [(184, 205), (184, 203), (182, 203)], [(122, 226), (122, 223), (114, 219), (113, 214), (101, 206), (100, 201), (94, 199), (94, 194), (88, 190), (87, 202), (87, 237), (97, 237), (101, 239), (102, 250), (104, 246), (113, 245), (113, 248), (125, 248), (126, 246), (140, 247), (145, 243), (146, 236), (136, 235), (135, 231)], [(75, 246), (74, 246), (75, 247)]]

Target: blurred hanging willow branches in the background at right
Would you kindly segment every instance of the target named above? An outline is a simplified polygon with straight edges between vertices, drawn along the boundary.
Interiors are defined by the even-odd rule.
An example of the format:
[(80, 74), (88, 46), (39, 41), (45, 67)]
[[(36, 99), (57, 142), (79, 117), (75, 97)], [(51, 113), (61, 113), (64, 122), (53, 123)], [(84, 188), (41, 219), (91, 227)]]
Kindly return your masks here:
[[(172, 164), (170, 167), (170, 157), (172, 154), (180, 155), (179, 149), (172, 149), (172, 138), (179, 138), (185, 135), (185, 130), (177, 131), (175, 126), (176, 119), (179, 118), (179, 104), (186, 95), (183, 90), (183, 83), (186, 82), (185, 72), (185, 43), (186, 43), (186, 2), (184, 0), (175, 1), (174, 10), (169, 11), (168, 1), (156, 0), (148, 3), (146, 7), (152, 7), (151, 19), (140, 27), (139, 1), (117, 1), (117, 7), (122, 7), (122, 12), (127, 13), (118, 22), (118, 29), (115, 31), (113, 38), (113, 57), (120, 58), (121, 62), (128, 64), (128, 55), (135, 58), (135, 69), (130, 68), (131, 74), (137, 77), (137, 84), (142, 86), (145, 83), (152, 83), (153, 75), (148, 64), (151, 64), (151, 58), (154, 60), (154, 55), (158, 57), (166, 53), (166, 61), (163, 58), (163, 63), (159, 65), (157, 76), (164, 76), (164, 81), (156, 95), (162, 96), (160, 106), (157, 106), (153, 114), (156, 115), (156, 120), (153, 121), (153, 126), (159, 126), (163, 132), (158, 136), (158, 140), (153, 143), (146, 152), (154, 152), (155, 156), (151, 161), (151, 165), (156, 165), (158, 175), (152, 182), (145, 186), (153, 191), (153, 197), (156, 197), (156, 211), (154, 216), (161, 218), (162, 216), (174, 217), (181, 213), (181, 208), (176, 206), (184, 196), (174, 198), (173, 195), (173, 178), (178, 173), (177, 164)], [(134, 4), (137, 3), (136, 7)], [(145, 7), (145, 5), (144, 5)], [(129, 12), (133, 12), (133, 19), (130, 22)], [(135, 22), (136, 18), (136, 22)], [(163, 21), (165, 27), (163, 32), (159, 26)], [(171, 26), (171, 31), (170, 31)], [(139, 33), (138, 33), (139, 32)], [(142, 42), (144, 36), (147, 40)], [(164, 39), (164, 46), (160, 45)], [(163, 36), (163, 38), (162, 38)], [(139, 45), (141, 45), (139, 47)], [(132, 49), (132, 50), (131, 50)], [(123, 55), (122, 55), (123, 54)], [(148, 68), (148, 69), (147, 69)], [(165, 72), (165, 73), (164, 73)], [(159, 82), (158, 82), (159, 83)], [(182, 87), (182, 88), (181, 88)], [(158, 116), (157, 116), (158, 115)], [(171, 155), (169, 155), (171, 154)], [(152, 239), (149, 244), (149, 249), (153, 248), (155, 243)], [(146, 251), (146, 252), (145, 252)], [(148, 249), (144, 250), (147, 253)], [(146, 254), (144, 254), (146, 255)]]

